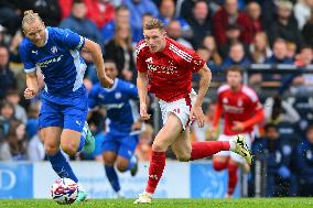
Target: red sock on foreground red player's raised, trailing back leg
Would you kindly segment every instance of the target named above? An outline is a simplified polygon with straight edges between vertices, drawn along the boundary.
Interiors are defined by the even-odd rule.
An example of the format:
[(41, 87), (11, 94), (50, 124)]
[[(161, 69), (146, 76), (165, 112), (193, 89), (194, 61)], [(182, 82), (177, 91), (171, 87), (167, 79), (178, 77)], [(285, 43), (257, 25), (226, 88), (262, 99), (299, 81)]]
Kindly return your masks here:
[(227, 141), (206, 141), (193, 142), (192, 155), (190, 161), (204, 158), (218, 153), (219, 151), (229, 151), (229, 142)]

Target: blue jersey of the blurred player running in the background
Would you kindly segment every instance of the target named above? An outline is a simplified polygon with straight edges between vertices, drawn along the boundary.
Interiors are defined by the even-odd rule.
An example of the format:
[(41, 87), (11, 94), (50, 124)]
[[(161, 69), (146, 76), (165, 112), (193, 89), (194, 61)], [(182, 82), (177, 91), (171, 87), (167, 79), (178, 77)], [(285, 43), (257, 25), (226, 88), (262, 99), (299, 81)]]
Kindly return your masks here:
[(131, 83), (116, 78), (112, 88), (95, 85), (89, 94), (89, 108), (102, 106), (107, 110), (107, 132), (115, 135), (138, 134), (131, 125), (139, 120), (138, 89)]

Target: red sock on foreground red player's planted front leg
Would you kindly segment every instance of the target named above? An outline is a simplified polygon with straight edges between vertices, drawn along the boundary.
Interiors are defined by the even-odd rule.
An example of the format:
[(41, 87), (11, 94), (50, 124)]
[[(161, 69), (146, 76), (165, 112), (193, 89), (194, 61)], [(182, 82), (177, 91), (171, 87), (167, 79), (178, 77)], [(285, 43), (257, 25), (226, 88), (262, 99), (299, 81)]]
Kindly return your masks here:
[(145, 191), (153, 194), (165, 167), (165, 152), (152, 151)]

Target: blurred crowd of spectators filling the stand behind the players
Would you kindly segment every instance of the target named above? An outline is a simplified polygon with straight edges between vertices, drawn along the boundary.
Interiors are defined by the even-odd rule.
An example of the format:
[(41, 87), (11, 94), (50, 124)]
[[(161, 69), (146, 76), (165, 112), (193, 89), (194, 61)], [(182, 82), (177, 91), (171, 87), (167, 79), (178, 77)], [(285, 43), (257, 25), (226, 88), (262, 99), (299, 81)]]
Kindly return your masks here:
[[(116, 63), (119, 78), (134, 84), (134, 50), (143, 39), (142, 24), (151, 18), (162, 20), (169, 37), (206, 61), (217, 85), (231, 65), (247, 70), (252, 70), (252, 64), (312, 69), (313, 0), (0, 0), (0, 161), (45, 158), (37, 133), (41, 98), (26, 101), (21, 96), (25, 75), (18, 47), (23, 40), (22, 12), (30, 9), (45, 25), (69, 29), (98, 43), (104, 58)], [(87, 63), (84, 83), (90, 89), (98, 81), (96, 67), (90, 54), (82, 55)], [(313, 75), (252, 74), (247, 84), (258, 92), (266, 112), (260, 124), (265, 128), (257, 131), (263, 139), (256, 140), (252, 152), (259, 160), (267, 155), (271, 179), (267, 196), (313, 194), (313, 100), (307, 96), (313, 91)], [(265, 97), (265, 86), (280, 90)], [(207, 97), (214, 100), (214, 96)], [(214, 102), (205, 110), (206, 127), (195, 128), (193, 140), (211, 140)], [(88, 121), (100, 142), (105, 112), (91, 113)], [(149, 160), (155, 133), (153, 120), (149, 122), (137, 150), (141, 161)], [(101, 160), (95, 155), (73, 160), (93, 158)]]

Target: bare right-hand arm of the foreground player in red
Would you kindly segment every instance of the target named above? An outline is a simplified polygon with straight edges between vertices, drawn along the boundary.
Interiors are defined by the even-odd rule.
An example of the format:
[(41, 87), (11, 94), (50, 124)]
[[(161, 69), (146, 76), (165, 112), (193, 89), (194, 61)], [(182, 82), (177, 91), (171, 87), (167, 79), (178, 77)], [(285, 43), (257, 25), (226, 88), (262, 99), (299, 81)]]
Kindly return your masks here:
[(197, 97), (195, 100), (195, 103), (192, 107), (191, 117), (190, 119), (196, 119), (198, 127), (204, 125), (205, 117), (202, 110), (202, 103), (204, 100), (204, 97), (208, 90), (208, 86), (211, 84), (212, 74), (209, 68), (206, 64), (203, 65), (203, 67), (197, 72), (199, 74), (199, 89), (197, 92)]

